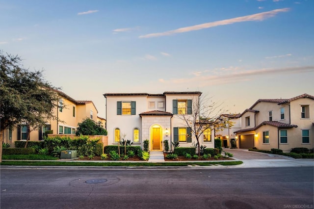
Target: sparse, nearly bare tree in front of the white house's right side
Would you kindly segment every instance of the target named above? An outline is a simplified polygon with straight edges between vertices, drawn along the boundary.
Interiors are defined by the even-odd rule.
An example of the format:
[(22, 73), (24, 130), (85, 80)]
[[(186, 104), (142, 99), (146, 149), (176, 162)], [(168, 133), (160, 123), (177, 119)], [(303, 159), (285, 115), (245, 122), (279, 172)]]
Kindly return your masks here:
[(191, 129), (190, 133), (194, 135), (197, 141), (198, 156), (201, 156), (200, 139), (206, 130), (220, 130), (226, 127), (232, 127), (230, 121), (218, 120), (222, 112), (226, 111), (221, 109), (222, 104), (216, 104), (210, 100), (207, 95), (198, 99), (192, 99), (192, 113), (191, 114), (178, 114), (177, 117), (181, 118), (185, 125)]

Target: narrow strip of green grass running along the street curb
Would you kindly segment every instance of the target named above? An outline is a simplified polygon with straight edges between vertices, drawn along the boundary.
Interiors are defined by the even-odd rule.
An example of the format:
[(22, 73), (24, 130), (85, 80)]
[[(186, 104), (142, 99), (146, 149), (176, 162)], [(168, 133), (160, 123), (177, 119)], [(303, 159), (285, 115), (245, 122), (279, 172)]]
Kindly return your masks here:
[(24, 166), (211, 166), (239, 165), (242, 161), (211, 161), (211, 162), (79, 162), (79, 161), (2, 161), (0, 165)]

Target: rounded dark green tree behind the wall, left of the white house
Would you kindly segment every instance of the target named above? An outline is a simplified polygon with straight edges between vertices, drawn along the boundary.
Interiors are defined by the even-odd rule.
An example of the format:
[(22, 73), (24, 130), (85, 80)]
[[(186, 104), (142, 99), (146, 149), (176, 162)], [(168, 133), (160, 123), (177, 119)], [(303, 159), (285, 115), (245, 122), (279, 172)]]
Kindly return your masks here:
[(103, 128), (103, 123), (97, 123), (90, 118), (85, 118), (81, 123), (78, 123), (76, 135), (107, 135), (107, 130)]

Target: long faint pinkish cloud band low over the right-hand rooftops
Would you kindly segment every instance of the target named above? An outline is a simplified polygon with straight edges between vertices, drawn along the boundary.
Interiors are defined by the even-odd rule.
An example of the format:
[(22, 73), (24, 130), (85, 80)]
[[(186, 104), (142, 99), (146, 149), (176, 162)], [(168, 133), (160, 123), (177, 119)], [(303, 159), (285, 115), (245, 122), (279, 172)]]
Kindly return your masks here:
[(235, 83), (247, 80), (252, 80), (258, 76), (268, 76), (274, 74), (300, 74), (314, 72), (314, 66), (303, 66), (303, 67), (286, 67), (286, 68), (266, 68), (250, 71), (236, 71), (232, 73), (222, 73), (220, 75), (209, 75), (201, 76), (202, 72), (195, 72), (192, 78), (174, 78), (165, 80), (163, 78), (158, 79), (159, 82), (163, 83), (198, 83), (200, 86), (210, 86), (217, 84)]

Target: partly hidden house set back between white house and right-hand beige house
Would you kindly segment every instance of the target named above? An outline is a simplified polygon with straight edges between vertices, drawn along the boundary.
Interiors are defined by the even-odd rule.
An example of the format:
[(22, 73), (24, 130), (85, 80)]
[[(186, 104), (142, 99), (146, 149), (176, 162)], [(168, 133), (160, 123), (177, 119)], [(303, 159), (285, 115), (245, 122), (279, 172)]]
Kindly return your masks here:
[[(228, 121), (226, 128), (215, 131), (215, 138), (219, 138), (222, 141), (223, 147), (231, 147), (231, 142), (236, 141), (235, 131), (241, 129), (241, 114), (221, 114), (217, 120)], [(228, 126), (230, 125), (230, 127)]]

